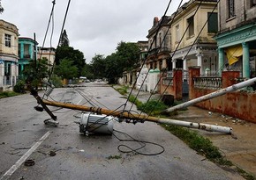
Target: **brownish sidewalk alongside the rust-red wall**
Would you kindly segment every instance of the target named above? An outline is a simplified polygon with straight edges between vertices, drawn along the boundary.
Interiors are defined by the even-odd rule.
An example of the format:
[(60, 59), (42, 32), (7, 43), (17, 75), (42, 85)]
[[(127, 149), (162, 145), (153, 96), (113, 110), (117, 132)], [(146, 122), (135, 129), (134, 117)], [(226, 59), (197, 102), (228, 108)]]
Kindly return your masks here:
[[(137, 93), (138, 90), (132, 90), (132, 95), (135, 96)], [(138, 99), (141, 102), (147, 102), (149, 96), (149, 92), (141, 91)], [(154, 94), (151, 99), (157, 97), (159, 95)], [(196, 106), (188, 107), (187, 111), (179, 111), (178, 115), (171, 117), (171, 119), (232, 127), (235, 138), (230, 134), (196, 131), (211, 140), (230, 162), (256, 176), (256, 138), (254, 137), (256, 124), (218, 112), (209, 112)]]

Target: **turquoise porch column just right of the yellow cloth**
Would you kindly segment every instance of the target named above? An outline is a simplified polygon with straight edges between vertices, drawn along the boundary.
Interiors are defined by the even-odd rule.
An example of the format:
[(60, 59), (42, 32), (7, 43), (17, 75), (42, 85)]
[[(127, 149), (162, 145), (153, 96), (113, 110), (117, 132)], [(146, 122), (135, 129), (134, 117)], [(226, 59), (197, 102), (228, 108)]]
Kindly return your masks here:
[(249, 45), (248, 43), (243, 42), (242, 46), (243, 46), (243, 77), (250, 78)]

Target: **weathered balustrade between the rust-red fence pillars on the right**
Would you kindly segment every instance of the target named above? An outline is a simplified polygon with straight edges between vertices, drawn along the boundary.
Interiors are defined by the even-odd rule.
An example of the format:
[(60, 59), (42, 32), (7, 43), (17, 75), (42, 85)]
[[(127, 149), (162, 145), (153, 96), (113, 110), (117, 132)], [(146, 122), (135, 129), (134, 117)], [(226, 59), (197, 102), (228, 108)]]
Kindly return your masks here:
[(222, 88), (222, 77), (194, 77), (194, 88), (217, 90)]

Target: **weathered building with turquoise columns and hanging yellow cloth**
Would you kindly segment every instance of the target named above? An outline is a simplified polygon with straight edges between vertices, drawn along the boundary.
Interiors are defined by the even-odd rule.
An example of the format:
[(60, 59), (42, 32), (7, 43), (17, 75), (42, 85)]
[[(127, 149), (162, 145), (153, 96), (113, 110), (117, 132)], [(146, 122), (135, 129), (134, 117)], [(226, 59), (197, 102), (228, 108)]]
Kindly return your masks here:
[(246, 78), (256, 76), (256, 1), (225, 0), (218, 8), (219, 33), (215, 40), (220, 72), (228, 68)]

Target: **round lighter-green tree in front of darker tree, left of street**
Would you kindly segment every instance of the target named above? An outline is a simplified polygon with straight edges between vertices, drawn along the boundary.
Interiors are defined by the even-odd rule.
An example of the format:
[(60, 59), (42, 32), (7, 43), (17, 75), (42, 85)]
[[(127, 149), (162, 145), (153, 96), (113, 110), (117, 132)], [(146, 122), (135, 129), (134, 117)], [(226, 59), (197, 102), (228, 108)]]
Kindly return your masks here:
[(60, 62), (55, 68), (55, 73), (57, 76), (61, 76), (63, 79), (72, 79), (77, 76), (78, 68), (73, 65), (73, 61), (65, 58)]

